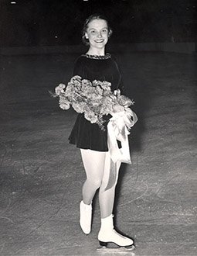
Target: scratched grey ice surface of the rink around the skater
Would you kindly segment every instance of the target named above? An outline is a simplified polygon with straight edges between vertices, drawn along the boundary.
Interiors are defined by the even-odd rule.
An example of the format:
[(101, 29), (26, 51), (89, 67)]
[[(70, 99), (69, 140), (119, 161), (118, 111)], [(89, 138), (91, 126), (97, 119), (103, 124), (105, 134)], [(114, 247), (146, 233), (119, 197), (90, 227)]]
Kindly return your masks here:
[[(139, 120), (117, 185), (116, 227), (134, 238), (136, 256), (197, 255), (196, 55), (117, 57)], [(70, 80), (75, 58), (1, 57), (1, 255), (98, 254), (97, 196), (91, 234), (78, 223), (85, 174), (67, 140), (76, 113), (49, 95)]]

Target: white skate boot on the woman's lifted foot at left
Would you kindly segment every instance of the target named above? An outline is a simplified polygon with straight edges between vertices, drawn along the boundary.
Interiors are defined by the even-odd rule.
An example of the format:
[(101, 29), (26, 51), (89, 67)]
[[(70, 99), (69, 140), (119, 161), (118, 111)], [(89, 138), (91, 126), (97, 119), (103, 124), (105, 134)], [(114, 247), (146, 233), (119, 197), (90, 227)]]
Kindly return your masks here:
[(80, 227), (83, 233), (90, 234), (92, 223), (92, 204), (86, 205), (80, 202)]

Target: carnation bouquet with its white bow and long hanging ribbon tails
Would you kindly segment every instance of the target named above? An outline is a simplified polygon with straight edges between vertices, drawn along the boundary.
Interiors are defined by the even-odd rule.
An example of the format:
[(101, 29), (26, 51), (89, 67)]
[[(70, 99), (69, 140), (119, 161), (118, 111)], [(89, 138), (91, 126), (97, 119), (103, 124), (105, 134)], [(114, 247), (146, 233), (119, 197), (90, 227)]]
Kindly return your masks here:
[[(110, 114), (107, 123), (107, 145), (110, 157), (114, 163), (122, 161), (131, 164), (130, 150), (127, 135), (137, 122), (138, 117), (129, 108), (134, 102), (120, 90), (111, 92), (108, 81), (89, 81), (79, 75), (74, 76), (68, 85), (59, 84), (53, 96), (59, 96), (59, 107), (70, 109), (70, 106), (84, 116), (90, 123), (97, 123), (100, 129), (104, 126), (104, 115)], [(121, 149), (117, 146), (117, 140), (121, 141)]]

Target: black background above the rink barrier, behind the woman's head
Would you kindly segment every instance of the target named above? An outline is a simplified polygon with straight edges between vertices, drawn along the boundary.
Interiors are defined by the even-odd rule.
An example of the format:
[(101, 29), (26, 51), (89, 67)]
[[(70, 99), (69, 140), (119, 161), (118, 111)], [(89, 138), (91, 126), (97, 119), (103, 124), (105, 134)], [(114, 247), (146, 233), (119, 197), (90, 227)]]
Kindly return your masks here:
[(0, 47), (81, 43), (83, 22), (107, 16), (111, 43), (195, 42), (194, 0), (1, 0)]

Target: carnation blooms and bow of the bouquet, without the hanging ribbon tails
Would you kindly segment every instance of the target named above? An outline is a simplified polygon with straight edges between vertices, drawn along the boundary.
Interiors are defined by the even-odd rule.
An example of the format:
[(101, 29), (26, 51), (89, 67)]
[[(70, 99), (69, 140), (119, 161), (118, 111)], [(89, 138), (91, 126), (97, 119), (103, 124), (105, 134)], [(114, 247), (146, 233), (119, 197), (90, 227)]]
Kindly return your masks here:
[[(84, 113), (90, 123), (97, 123), (102, 130), (105, 130), (103, 116), (108, 114), (114, 116), (113, 122), (119, 132), (123, 125), (129, 130), (135, 123), (134, 112), (129, 108), (134, 102), (121, 95), (120, 90), (111, 92), (110, 86), (108, 81), (91, 82), (76, 75), (67, 86), (59, 84), (55, 89), (55, 96), (59, 96), (61, 109), (70, 109), (72, 106), (76, 112)], [(124, 119), (121, 126), (120, 118)]]

